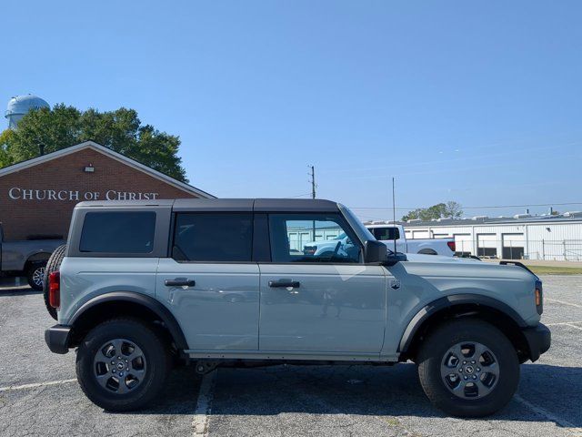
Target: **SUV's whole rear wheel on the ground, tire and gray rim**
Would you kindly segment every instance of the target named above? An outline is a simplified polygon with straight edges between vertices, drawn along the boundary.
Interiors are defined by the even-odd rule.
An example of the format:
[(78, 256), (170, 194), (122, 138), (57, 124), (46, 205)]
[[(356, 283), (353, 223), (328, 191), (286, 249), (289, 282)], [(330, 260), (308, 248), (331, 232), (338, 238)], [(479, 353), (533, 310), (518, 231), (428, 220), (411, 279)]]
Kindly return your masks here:
[(170, 358), (156, 330), (140, 320), (107, 320), (91, 330), (76, 356), (87, 398), (110, 412), (137, 410), (164, 389)]

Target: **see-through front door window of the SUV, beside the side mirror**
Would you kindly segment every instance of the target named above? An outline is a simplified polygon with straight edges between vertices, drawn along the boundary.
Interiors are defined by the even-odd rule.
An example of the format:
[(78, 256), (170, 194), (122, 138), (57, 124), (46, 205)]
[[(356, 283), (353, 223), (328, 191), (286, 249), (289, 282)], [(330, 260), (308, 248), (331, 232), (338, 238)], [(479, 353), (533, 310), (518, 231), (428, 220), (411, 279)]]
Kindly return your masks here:
[(274, 262), (359, 262), (361, 248), (338, 215), (270, 214)]

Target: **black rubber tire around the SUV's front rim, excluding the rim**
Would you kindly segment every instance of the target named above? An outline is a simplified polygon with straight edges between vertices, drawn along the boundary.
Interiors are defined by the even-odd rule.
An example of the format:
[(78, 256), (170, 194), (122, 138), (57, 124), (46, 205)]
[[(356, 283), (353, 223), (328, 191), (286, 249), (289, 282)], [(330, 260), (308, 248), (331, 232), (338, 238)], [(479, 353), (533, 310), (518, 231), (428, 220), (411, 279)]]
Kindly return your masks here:
[[(463, 342), (481, 343), (495, 356), (498, 377), (485, 396), (475, 399), (459, 397), (441, 377), (441, 365), (446, 360), (447, 351)], [(511, 400), (519, 383), (519, 361), (514, 346), (500, 330), (482, 320), (460, 319), (439, 326), (421, 345), (416, 362), (420, 384), (428, 399), (454, 416), (483, 417), (497, 412)], [(462, 362), (457, 365), (462, 367)], [(455, 372), (455, 378), (464, 383), (461, 375), (467, 375), (467, 369), (465, 373), (459, 371), (458, 376)], [(467, 382), (471, 382), (470, 379)]]

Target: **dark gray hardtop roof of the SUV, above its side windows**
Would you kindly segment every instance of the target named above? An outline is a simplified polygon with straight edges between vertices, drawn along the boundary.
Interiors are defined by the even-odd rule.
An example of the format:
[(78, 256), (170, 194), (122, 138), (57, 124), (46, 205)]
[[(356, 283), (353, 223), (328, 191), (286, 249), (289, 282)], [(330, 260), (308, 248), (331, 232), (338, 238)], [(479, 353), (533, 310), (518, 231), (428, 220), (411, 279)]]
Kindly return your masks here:
[(336, 212), (337, 203), (313, 198), (176, 198), (156, 200), (97, 200), (76, 208), (173, 207), (175, 211)]

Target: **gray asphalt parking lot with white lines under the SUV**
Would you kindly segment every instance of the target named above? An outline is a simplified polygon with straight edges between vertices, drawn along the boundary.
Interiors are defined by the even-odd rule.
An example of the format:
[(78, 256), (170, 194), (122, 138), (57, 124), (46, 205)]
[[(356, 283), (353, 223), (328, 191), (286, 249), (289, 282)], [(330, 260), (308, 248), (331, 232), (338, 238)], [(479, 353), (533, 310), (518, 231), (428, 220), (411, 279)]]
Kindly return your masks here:
[(582, 276), (545, 277), (553, 344), (522, 366), (517, 396), (487, 420), (446, 417), (413, 364), (395, 367), (175, 371), (150, 410), (108, 413), (75, 381), (75, 353), (55, 355), (42, 296), (0, 289), (0, 435), (582, 436)]

